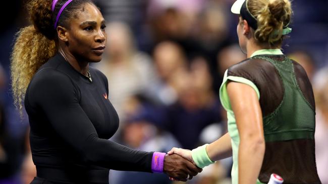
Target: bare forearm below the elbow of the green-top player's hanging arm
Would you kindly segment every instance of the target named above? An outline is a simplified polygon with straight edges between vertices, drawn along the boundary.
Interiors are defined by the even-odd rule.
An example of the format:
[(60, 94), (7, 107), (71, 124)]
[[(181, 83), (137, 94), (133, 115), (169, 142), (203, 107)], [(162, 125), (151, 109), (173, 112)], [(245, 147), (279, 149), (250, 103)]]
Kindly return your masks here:
[(238, 152), (238, 183), (256, 183), (264, 157), (263, 139), (241, 138)]

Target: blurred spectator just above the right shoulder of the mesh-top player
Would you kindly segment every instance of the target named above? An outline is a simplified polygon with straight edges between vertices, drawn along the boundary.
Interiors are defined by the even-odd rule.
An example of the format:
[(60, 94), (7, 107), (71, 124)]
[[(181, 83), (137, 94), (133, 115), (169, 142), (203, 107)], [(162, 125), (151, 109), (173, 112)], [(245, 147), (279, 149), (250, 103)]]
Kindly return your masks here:
[(315, 72), (315, 62), (312, 56), (308, 52), (301, 50), (293, 51), (288, 56), (303, 66), (307, 76), (312, 81)]

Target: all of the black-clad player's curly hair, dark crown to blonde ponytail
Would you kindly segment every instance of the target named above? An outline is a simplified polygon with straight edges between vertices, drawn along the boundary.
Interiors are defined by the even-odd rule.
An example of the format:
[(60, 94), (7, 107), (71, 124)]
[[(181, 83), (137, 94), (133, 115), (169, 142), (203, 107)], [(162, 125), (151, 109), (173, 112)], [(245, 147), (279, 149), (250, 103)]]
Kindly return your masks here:
[[(54, 22), (67, 0), (59, 0), (54, 11), (52, 1), (31, 0), (27, 4), (32, 25), (22, 28), (16, 35), (11, 57), (12, 90), (16, 107), (21, 111), (26, 88), (39, 67), (58, 51)], [(69, 29), (70, 19), (77, 18), (90, 0), (74, 0), (62, 12), (58, 26)]]

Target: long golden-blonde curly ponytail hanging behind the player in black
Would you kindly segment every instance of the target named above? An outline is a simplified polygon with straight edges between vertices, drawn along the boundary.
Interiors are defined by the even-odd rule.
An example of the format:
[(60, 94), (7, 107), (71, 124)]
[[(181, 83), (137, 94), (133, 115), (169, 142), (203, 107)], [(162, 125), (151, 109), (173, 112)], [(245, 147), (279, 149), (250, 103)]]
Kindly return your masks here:
[(28, 26), (17, 33), (11, 57), (11, 77), (14, 103), (18, 110), (23, 108), (26, 88), (39, 67), (57, 52), (54, 40)]

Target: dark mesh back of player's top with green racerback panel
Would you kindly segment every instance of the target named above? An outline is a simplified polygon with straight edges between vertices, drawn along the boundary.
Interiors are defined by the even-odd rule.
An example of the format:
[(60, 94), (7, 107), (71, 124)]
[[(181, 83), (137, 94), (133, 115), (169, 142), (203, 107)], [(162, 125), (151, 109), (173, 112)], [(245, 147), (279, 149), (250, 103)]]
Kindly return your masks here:
[(285, 55), (257, 55), (228, 70), (259, 89), (265, 154), (258, 179), (271, 173), (284, 183), (321, 183), (314, 151), (315, 103), (305, 70)]

